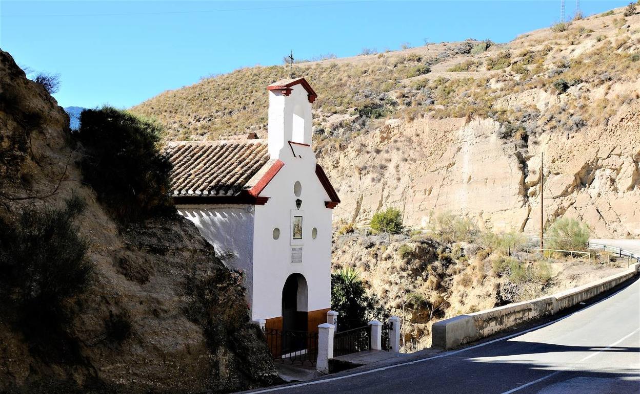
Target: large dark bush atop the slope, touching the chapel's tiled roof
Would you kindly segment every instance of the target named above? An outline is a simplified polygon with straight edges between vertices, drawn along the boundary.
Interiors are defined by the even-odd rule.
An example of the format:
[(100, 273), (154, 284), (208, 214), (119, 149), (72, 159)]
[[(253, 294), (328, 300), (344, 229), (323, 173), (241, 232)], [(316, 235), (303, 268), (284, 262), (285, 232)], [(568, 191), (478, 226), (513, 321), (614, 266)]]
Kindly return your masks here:
[(111, 107), (80, 115), (84, 179), (121, 222), (171, 211), (171, 164), (159, 151), (161, 132), (156, 123)]

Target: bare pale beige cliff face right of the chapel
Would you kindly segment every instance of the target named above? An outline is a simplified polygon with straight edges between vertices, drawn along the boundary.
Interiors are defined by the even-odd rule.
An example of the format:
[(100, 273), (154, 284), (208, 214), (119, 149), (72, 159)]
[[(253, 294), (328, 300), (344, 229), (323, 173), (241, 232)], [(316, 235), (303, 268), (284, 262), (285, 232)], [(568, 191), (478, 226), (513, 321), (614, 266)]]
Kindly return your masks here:
[(389, 125), (333, 149), (321, 162), (342, 204), (335, 216), (364, 224), (386, 206), (408, 225), (433, 213), (467, 215), (495, 231), (540, 229), (540, 158), (545, 152), (545, 220), (579, 218), (598, 236), (640, 236), (640, 104), (604, 128), (544, 132), (522, 149), (490, 118)]

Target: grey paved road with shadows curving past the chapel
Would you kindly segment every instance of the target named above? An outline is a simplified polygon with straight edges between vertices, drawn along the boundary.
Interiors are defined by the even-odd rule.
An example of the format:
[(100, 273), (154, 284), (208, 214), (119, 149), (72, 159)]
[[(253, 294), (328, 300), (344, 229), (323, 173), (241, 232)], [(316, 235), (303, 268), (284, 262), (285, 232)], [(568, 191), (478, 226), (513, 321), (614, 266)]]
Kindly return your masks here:
[(640, 280), (525, 333), (259, 392), (640, 393)]

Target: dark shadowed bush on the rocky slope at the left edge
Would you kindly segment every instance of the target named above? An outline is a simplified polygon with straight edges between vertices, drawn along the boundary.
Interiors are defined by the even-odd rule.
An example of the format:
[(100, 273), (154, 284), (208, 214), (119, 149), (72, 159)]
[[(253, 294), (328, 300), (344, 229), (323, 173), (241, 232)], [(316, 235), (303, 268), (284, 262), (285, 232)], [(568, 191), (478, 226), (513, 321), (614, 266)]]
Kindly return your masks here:
[(62, 209), (26, 211), (15, 224), (0, 222), (0, 299), (12, 305), (19, 328), (36, 344), (60, 340), (68, 321), (65, 301), (92, 281), (89, 242), (74, 224), (83, 209), (84, 202), (72, 197)]

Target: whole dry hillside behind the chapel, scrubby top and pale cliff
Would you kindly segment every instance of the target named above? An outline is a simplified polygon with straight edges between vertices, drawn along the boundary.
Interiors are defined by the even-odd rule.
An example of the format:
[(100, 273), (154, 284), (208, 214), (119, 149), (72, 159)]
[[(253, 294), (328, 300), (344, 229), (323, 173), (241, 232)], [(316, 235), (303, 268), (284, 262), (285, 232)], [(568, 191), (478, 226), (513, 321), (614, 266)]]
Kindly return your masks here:
[[(540, 154), (547, 222), (568, 215), (599, 236), (640, 236), (640, 14), (624, 9), (523, 34), (298, 63), (319, 94), (314, 133), (339, 190), (335, 218), (404, 209), (468, 215), (498, 231), (536, 231)], [(256, 66), (203, 79), (133, 108), (166, 139), (264, 132)]]

